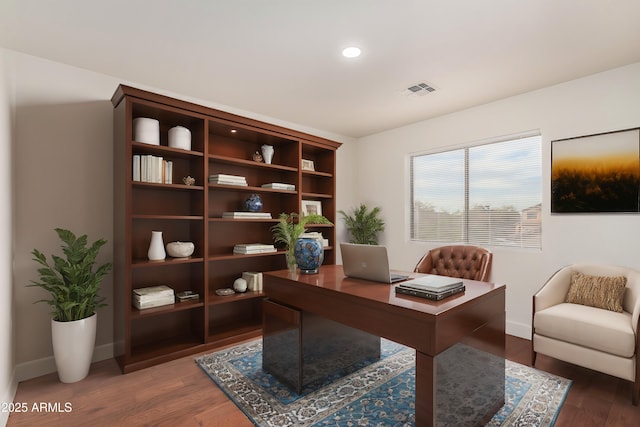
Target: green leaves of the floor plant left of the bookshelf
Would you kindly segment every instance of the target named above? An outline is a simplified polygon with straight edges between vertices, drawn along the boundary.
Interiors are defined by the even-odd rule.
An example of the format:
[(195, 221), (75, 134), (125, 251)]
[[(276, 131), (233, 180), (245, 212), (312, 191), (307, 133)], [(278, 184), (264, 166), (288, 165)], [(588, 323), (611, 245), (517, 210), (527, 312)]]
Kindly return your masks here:
[(51, 294), (46, 302), (52, 307), (52, 316), (59, 322), (70, 322), (90, 317), (96, 308), (105, 307), (104, 297), (100, 297), (100, 282), (111, 270), (112, 264), (105, 263), (93, 269), (100, 248), (106, 240), (96, 240), (87, 247), (87, 236), (76, 237), (69, 230), (56, 228), (65, 257), (51, 255), (53, 265), (38, 249), (31, 254), (41, 267), (38, 269), (40, 281), (31, 281), (30, 285), (40, 287)]

